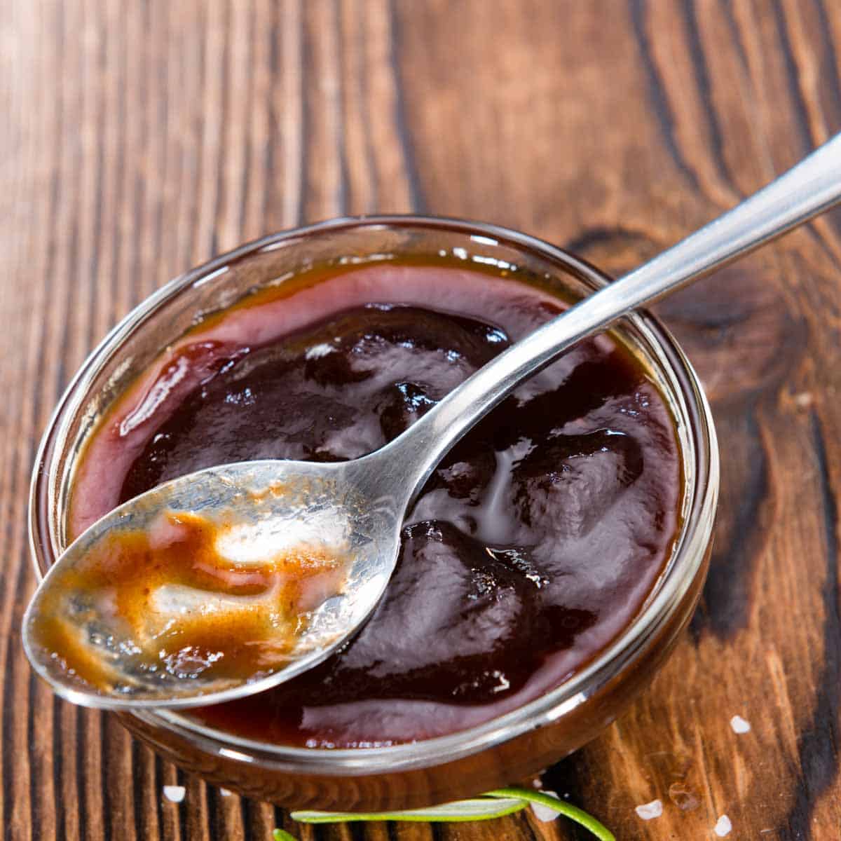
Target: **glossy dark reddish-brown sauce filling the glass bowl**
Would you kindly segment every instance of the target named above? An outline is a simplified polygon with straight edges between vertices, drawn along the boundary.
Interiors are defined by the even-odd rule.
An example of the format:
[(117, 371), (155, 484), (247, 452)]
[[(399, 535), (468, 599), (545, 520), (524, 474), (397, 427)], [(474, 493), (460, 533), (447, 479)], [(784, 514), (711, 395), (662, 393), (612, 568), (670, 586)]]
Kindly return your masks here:
[[(563, 309), (520, 283), (488, 294), (486, 276), (464, 271), (450, 282), (463, 284), (469, 315), (452, 302), (435, 309), (435, 297), (376, 304), (377, 284), (392, 288), (389, 269), (368, 272), (368, 306), (336, 313), (325, 285), (309, 325), (290, 335), (182, 346), (169, 368), (200, 375), (161, 422), (144, 421), (119, 499), (218, 463), (357, 458)], [(450, 278), (441, 267), (415, 272)], [(259, 314), (257, 304), (251, 325)], [(114, 447), (117, 428), (103, 433)], [(627, 627), (669, 559), (679, 511), (663, 397), (625, 348), (584, 341), (436, 469), (406, 521), (389, 590), (351, 643), (275, 690), (194, 714), (248, 738), (335, 747), (487, 721), (558, 685)]]

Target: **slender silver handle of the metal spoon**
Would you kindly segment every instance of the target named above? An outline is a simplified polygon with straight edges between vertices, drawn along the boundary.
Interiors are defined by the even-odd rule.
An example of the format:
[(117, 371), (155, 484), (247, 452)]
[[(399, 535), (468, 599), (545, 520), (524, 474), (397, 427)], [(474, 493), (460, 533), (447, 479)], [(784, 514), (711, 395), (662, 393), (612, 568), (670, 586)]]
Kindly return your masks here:
[[(575, 304), (473, 373), (384, 448), (393, 451), (395, 479), (405, 489), (413, 487), (414, 498), (436, 463), (468, 429), (570, 345), (801, 225), (839, 199), (841, 135), (836, 135), (758, 193)], [(399, 476), (403, 468), (408, 472)], [(413, 471), (414, 476), (410, 475)]]

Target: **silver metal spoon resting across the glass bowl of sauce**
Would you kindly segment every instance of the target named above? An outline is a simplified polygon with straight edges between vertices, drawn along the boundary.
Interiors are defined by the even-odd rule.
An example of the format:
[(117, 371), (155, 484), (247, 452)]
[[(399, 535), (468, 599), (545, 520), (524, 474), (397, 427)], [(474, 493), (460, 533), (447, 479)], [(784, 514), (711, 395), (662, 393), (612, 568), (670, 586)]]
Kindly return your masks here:
[[(736, 208), (511, 346), (377, 452), (345, 463), (227, 464), (167, 482), (120, 505), (73, 542), (36, 591), (23, 628), (34, 669), (70, 701), (116, 709), (227, 701), (312, 668), (365, 621), (383, 595), (398, 557), (405, 512), (436, 464), (517, 385), (584, 336), (800, 225), (839, 198), (841, 135)], [(267, 488), (276, 490), (267, 494)], [(260, 495), (259, 504), (255, 495)], [(140, 669), (133, 659), (134, 641), (110, 615), (113, 611), (87, 603), (83, 594), (68, 595), (67, 573), (115, 530), (151, 529), (166, 511), (200, 512), (210, 519), (233, 515), (240, 547), (252, 554), (259, 547), (271, 554), (278, 543), (290, 541), (345, 553), (352, 560), (341, 593), (311, 612), (288, 660), (273, 670), (232, 681), (200, 672)], [(60, 653), (38, 643), (42, 611), (56, 611), (57, 604), (88, 652), (114, 675), (111, 685), (97, 689), (68, 674)]]

